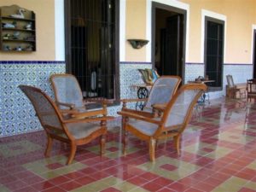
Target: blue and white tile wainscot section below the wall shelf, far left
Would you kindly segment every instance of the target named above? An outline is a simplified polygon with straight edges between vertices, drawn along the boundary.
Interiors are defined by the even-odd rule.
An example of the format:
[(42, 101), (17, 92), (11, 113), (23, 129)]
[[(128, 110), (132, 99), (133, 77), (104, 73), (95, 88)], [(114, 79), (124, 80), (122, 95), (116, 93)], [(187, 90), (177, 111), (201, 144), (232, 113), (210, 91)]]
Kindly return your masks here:
[(33, 85), (53, 96), (49, 76), (65, 70), (65, 61), (0, 61), (0, 137), (42, 129), (18, 85)]

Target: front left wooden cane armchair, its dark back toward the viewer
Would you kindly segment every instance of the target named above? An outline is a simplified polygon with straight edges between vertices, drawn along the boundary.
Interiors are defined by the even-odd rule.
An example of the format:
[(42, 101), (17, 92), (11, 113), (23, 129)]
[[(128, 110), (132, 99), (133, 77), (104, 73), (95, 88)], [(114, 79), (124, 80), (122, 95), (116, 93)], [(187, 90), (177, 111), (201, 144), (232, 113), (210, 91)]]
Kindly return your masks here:
[(67, 165), (69, 165), (73, 161), (77, 146), (90, 143), (96, 137), (101, 138), (101, 154), (104, 154), (107, 120), (113, 119), (113, 117), (64, 119), (55, 102), (52, 102), (44, 91), (27, 85), (20, 85), (19, 88), (32, 102), (38, 119), (47, 134), (48, 143), (45, 156), (49, 156), (53, 139), (68, 143), (71, 145), (67, 159)]

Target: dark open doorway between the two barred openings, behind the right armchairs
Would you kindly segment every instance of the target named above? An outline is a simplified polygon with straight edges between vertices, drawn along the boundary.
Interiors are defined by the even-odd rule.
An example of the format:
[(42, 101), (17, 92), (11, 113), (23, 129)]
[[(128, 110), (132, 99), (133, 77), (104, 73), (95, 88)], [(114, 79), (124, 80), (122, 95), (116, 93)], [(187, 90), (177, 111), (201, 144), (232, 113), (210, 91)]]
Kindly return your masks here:
[(183, 79), (185, 23), (185, 10), (152, 3), (152, 63), (160, 75), (177, 75)]

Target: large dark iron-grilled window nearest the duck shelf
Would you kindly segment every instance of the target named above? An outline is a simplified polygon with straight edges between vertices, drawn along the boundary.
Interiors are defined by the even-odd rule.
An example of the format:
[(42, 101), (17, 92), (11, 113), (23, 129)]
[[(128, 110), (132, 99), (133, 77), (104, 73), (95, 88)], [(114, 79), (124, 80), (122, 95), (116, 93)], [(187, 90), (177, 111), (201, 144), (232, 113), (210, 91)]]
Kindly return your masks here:
[(83, 96), (119, 97), (118, 0), (65, 0), (67, 73)]

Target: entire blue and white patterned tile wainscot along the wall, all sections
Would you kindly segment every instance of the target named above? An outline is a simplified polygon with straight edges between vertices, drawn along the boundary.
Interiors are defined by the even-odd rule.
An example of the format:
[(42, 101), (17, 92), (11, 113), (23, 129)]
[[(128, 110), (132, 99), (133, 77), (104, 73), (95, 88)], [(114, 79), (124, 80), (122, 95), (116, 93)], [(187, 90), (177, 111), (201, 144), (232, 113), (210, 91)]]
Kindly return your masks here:
[[(143, 84), (137, 69), (151, 68), (150, 62), (120, 62), (120, 98), (136, 98), (137, 90), (132, 84)], [(26, 96), (18, 89), (19, 84), (30, 84), (44, 90), (53, 97), (49, 76), (53, 73), (65, 73), (65, 61), (0, 61), (0, 137), (6, 137), (38, 131), (41, 125)], [(252, 64), (224, 64), (225, 87), (227, 74), (232, 74), (236, 83), (244, 83), (253, 77)], [(185, 82), (204, 74), (203, 63), (186, 63)], [(211, 92), (211, 99), (225, 95), (225, 90)], [(134, 104), (131, 104), (134, 108)], [(108, 113), (117, 116), (121, 106), (108, 108)], [(112, 123), (114, 124), (114, 122)]]

